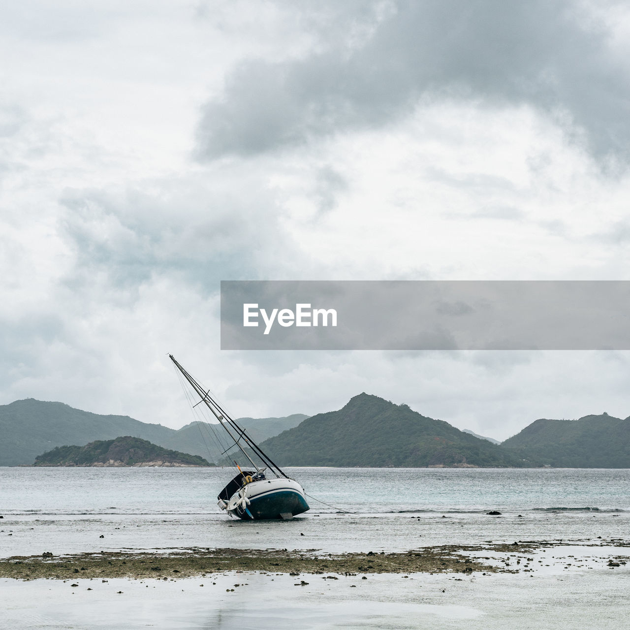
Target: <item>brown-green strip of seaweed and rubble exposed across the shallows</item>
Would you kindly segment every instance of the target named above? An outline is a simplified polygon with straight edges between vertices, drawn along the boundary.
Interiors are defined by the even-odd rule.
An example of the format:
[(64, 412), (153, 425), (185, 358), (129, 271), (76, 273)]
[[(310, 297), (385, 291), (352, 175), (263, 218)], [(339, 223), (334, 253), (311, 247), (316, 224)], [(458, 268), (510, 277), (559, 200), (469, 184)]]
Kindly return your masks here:
[[(602, 555), (609, 568), (630, 568), (630, 542), (619, 539), (594, 542), (518, 541), (483, 545), (440, 545), (404, 553), (373, 552), (322, 554), (320, 549), (202, 549), (192, 547), (164, 553), (156, 550), (101, 551), (100, 553), (13, 556), (0, 559), (0, 578), (18, 580), (76, 580), (77, 578), (157, 578), (169, 580), (206, 574), (259, 572), (289, 575), (386, 573), (530, 573), (539, 569), (533, 554), (554, 547), (623, 549), (624, 553)], [(487, 555), (490, 554), (490, 555)], [(592, 554), (595, 555), (595, 554)], [(494, 557), (491, 557), (494, 556)], [(501, 558), (505, 556), (505, 558)], [(573, 557), (573, 556), (571, 556)], [(540, 562), (540, 561), (539, 561)], [(546, 565), (548, 566), (548, 565)]]

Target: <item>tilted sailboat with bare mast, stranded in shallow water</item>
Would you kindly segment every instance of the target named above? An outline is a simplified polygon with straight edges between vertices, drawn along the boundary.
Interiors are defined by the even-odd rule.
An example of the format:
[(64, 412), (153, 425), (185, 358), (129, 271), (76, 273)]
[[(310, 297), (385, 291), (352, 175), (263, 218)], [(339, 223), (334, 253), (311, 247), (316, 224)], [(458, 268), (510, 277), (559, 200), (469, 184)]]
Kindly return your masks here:
[(226, 431), (231, 445), (224, 450), (223, 455), (232, 449), (238, 449), (248, 462), (247, 469), (242, 469), (232, 457), (230, 458), (238, 474), (217, 496), (219, 508), (230, 516), (243, 520), (268, 518), (288, 520), (309, 510), (304, 488), (295, 479), (285, 474), (249, 437), (246, 430), (234, 418), (227, 415), (219, 403), (210, 396), (209, 389), (205, 390), (188, 374), (173, 355), (169, 355), (169, 358), (188, 381), (195, 394), (200, 397), (195, 406), (205, 404)]

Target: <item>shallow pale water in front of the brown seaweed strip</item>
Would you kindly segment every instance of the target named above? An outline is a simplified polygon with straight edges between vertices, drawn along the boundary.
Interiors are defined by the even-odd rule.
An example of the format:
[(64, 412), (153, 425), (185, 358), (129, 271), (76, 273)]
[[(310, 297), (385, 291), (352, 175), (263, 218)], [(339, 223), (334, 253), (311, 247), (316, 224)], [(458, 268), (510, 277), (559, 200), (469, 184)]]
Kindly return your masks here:
[(447, 574), (302, 577), (306, 586), (295, 586), (299, 578), (289, 575), (243, 573), (166, 582), (77, 580), (77, 587), (0, 580), (0, 616), (15, 630), (602, 630), (626, 623), (630, 587), (630, 572), (605, 570), (461, 581)]

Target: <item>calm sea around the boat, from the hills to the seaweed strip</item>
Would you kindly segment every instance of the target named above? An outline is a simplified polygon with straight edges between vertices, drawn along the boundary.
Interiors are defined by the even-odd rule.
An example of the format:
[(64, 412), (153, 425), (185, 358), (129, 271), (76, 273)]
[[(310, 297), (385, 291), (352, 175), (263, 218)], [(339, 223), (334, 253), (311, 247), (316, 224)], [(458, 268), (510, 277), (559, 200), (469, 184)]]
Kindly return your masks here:
[(0, 468), (0, 556), (192, 546), (398, 551), (624, 538), (630, 525), (625, 469), (288, 472), (330, 507), (309, 499), (311, 511), (290, 522), (231, 520), (215, 501), (228, 469)]

